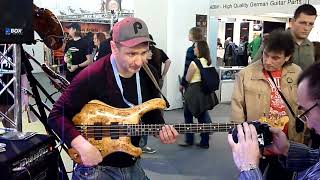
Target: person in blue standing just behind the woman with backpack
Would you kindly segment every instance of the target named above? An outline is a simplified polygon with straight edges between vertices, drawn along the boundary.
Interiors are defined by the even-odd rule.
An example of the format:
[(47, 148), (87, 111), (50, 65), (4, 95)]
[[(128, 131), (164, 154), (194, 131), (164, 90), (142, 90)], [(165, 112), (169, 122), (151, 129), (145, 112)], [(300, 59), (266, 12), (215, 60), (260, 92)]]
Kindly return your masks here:
[[(200, 41), (203, 39), (203, 34), (202, 34), (202, 30), (199, 27), (193, 27), (189, 30), (189, 41), (192, 42), (192, 46), (190, 46), (187, 49), (187, 53), (186, 53), (186, 59), (184, 62), (184, 71), (183, 71), (183, 76), (181, 79), (185, 79), (186, 78), (186, 74), (189, 68), (190, 63), (197, 58), (196, 55), (194, 55), (194, 43), (196, 41)], [(179, 90), (180, 92), (183, 94), (183, 91), (186, 87), (183, 87), (183, 85), (180, 84)]]

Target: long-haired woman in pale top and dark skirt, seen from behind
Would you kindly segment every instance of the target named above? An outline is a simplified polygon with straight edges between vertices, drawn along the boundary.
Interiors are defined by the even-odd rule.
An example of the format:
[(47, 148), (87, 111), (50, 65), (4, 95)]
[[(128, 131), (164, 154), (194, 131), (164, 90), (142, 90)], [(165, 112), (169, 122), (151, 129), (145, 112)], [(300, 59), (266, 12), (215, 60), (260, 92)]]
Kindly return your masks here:
[[(211, 94), (206, 94), (201, 89), (201, 74), (195, 61), (200, 61), (203, 68), (211, 65), (210, 50), (206, 41), (196, 41), (194, 44), (194, 54), (197, 56), (188, 68), (185, 80), (188, 87), (185, 92), (184, 119), (185, 123), (193, 123), (193, 117), (198, 119), (199, 123), (211, 123), (208, 110), (214, 107)], [(201, 133), (198, 147), (209, 148), (209, 133)], [(186, 133), (186, 139), (180, 146), (192, 146), (194, 144), (194, 134)]]

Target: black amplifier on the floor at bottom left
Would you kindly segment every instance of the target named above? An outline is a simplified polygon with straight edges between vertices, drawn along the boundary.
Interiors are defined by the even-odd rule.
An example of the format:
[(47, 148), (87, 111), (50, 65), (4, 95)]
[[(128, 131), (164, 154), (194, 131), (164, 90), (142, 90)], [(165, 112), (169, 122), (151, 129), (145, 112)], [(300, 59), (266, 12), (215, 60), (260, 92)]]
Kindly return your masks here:
[(1, 179), (57, 180), (59, 152), (52, 136), (35, 135), (27, 140), (3, 140), (0, 153)]

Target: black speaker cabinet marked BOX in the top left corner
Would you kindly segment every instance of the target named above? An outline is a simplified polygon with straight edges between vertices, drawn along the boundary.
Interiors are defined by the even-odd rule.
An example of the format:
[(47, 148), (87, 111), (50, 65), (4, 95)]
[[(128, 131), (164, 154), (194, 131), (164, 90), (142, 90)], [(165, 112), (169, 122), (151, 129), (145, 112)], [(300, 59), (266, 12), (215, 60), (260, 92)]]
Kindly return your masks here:
[(0, 1), (0, 44), (33, 43), (33, 0)]

